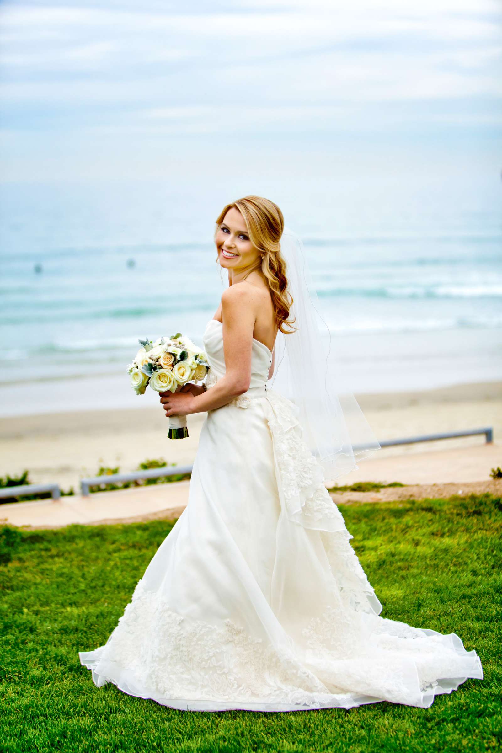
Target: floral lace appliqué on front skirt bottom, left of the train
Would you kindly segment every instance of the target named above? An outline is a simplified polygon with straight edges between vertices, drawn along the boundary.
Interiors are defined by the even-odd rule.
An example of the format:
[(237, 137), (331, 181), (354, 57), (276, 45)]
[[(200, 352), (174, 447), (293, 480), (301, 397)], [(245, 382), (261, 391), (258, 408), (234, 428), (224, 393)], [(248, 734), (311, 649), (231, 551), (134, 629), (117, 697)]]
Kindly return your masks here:
[(212, 625), (184, 617), (161, 593), (147, 590), (142, 579), (99, 651), (97, 675), (106, 675), (110, 663), (127, 667), (136, 685), (166, 700), (288, 700), (317, 706), (330, 698), (291, 648), (249, 636), (230, 619)]

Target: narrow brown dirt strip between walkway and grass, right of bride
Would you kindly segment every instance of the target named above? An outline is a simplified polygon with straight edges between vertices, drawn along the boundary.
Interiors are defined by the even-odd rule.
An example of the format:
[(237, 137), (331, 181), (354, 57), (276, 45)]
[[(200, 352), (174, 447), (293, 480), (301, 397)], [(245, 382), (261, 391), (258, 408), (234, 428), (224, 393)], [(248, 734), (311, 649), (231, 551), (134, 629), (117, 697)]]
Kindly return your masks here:
[(403, 499), (443, 499), (454, 494), (501, 494), (502, 480), (470, 481), (469, 483), (431, 483), (391, 486), (376, 489), (374, 492), (330, 492), (336, 505), (350, 505), (351, 502), (391, 502)]

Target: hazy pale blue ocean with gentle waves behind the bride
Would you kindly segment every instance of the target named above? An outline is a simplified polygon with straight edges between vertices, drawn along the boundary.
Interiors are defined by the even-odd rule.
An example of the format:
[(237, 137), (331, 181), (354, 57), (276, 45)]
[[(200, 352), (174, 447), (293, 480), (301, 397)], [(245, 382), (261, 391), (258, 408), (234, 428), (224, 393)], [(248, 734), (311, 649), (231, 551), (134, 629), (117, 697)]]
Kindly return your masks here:
[[(231, 185), (231, 181), (230, 181)], [(447, 179), (5, 184), (0, 189), (0, 415), (140, 406), (138, 338), (201, 343), (227, 285), (214, 219), (245, 193), (303, 237), (353, 392), (502, 378), (500, 185)], [(155, 396), (152, 395), (152, 398)]]

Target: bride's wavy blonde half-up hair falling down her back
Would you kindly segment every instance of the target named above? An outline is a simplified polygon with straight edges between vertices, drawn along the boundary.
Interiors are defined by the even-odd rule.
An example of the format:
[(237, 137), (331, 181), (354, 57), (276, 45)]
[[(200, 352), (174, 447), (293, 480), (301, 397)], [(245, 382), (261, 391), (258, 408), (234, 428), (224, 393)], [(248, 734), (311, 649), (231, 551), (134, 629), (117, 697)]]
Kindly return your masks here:
[(284, 230), (284, 217), (277, 204), (260, 196), (245, 196), (238, 199), (221, 210), (216, 220), (214, 239), (221, 228), (225, 215), (229, 209), (237, 209), (245, 220), (249, 238), (254, 248), (260, 252), (261, 258), (256, 264), (249, 267), (248, 274), (253, 270), (261, 270), (263, 277), (269, 286), (272, 304), (275, 312), (275, 322), (279, 331), (291, 334), (296, 330), (284, 330), (284, 326), (291, 327), (295, 319), (289, 319), (289, 310), (293, 304), (293, 298), (288, 291), (288, 278), (286, 277), (287, 264), (281, 255), (281, 235)]

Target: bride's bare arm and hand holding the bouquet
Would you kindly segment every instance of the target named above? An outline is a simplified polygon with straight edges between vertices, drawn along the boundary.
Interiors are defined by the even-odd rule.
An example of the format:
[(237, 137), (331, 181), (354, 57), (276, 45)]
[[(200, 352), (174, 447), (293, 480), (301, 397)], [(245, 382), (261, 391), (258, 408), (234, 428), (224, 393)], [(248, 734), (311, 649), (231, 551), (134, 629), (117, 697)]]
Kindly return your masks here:
[(254, 322), (258, 297), (252, 285), (239, 282), (221, 296), (221, 319), (226, 370), (211, 389), (200, 395), (191, 392), (160, 392), (166, 416), (202, 413), (230, 403), (249, 389)]

